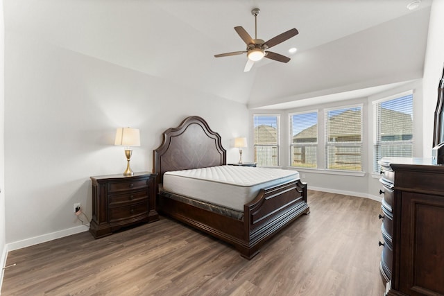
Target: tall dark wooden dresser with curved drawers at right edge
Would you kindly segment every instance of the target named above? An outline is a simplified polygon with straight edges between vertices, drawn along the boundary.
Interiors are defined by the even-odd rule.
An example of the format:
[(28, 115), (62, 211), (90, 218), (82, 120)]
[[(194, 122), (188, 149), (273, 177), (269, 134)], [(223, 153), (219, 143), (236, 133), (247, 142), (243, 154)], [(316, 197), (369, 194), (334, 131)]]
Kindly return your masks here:
[(444, 295), (444, 166), (396, 157), (380, 163), (387, 295)]

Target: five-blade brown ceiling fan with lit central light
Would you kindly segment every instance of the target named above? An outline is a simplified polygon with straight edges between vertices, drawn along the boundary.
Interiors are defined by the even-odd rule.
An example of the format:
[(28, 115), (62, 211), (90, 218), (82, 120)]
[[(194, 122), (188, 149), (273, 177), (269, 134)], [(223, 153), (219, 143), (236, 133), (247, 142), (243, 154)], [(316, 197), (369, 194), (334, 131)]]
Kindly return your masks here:
[(241, 26), (234, 27), (234, 30), (239, 34), (242, 40), (247, 44), (246, 51), (233, 51), (231, 53), (220, 53), (219, 55), (214, 55), (215, 58), (228, 57), (230, 55), (242, 55), (244, 53), (247, 54), (247, 63), (244, 68), (244, 72), (250, 71), (253, 64), (258, 60), (262, 60), (262, 58), (268, 58), (271, 60), (277, 60), (278, 62), (289, 62), (290, 58), (287, 58), (284, 55), (280, 55), (279, 53), (273, 53), (273, 51), (267, 51), (271, 47), (278, 45), (286, 40), (289, 40), (291, 37), (298, 35), (298, 30), (296, 28), (292, 28), (291, 30), (284, 32), (278, 36), (271, 38), (267, 42), (264, 42), (262, 39), (257, 39), (257, 15), (259, 15), (259, 8), (255, 8), (251, 10), (251, 14), (255, 16), (255, 39), (253, 39), (247, 31)]

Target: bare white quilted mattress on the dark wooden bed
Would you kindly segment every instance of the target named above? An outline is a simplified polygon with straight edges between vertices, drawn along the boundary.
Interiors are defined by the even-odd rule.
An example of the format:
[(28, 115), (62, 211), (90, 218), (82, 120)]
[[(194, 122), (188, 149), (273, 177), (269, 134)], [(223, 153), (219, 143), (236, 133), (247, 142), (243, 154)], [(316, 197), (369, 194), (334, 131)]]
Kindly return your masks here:
[(279, 168), (212, 166), (164, 173), (163, 190), (244, 211), (260, 189), (298, 179), (298, 171)]

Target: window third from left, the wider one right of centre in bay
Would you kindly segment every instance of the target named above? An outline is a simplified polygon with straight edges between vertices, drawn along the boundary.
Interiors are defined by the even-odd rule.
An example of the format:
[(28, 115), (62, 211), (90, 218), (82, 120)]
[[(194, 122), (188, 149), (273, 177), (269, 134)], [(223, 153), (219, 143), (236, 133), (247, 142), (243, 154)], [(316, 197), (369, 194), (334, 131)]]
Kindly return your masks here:
[(362, 107), (325, 111), (325, 166), (362, 171)]

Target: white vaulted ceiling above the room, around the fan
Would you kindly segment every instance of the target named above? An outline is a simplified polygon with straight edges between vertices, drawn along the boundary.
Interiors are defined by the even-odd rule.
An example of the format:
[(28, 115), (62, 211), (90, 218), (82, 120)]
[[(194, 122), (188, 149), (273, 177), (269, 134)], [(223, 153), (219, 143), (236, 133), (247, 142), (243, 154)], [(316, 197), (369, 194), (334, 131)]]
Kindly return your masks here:
[[(431, 0), (4, 0), (8, 35), (49, 42), (183, 85), (245, 103), (289, 108), (365, 96), (422, 77)], [(287, 64), (256, 62), (234, 31), (257, 37), (290, 28), (299, 35), (273, 51)], [(288, 49), (296, 47), (296, 54)]]

